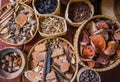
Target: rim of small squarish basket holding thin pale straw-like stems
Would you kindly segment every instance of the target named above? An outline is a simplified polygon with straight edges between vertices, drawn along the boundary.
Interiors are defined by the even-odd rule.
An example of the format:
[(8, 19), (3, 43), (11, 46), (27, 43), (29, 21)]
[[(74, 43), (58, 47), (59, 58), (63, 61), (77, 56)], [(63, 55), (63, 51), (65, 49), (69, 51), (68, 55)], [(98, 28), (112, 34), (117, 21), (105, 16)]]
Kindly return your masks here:
[(44, 16), (38, 17), (39, 22), (42, 20), (42, 18), (45, 18), (45, 17), (55, 17), (55, 18), (61, 19), (61, 20), (63, 20), (63, 23), (65, 24), (65, 26), (64, 26), (63, 32), (47, 34), (47, 33), (43, 33), (41, 31), (41, 27), (40, 27), (40, 24), (39, 24), (38, 32), (40, 33), (40, 35), (42, 37), (55, 37), (55, 36), (63, 36), (63, 35), (66, 34), (66, 32), (67, 32), (67, 24), (66, 24), (66, 20), (63, 17), (57, 16), (57, 15), (44, 15)]

